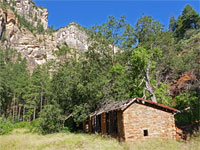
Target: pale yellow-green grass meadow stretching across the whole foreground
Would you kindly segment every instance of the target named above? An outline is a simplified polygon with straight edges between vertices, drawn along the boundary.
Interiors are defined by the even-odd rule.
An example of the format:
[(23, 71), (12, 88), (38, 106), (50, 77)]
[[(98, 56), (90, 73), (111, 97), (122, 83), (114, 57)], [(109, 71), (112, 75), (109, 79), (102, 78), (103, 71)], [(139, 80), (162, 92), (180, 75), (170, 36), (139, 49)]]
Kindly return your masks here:
[(57, 133), (39, 135), (15, 129), (0, 136), (0, 150), (199, 150), (200, 136), (189, 142), (152, 140), (137, 145), (119, 143), (99, 135)]

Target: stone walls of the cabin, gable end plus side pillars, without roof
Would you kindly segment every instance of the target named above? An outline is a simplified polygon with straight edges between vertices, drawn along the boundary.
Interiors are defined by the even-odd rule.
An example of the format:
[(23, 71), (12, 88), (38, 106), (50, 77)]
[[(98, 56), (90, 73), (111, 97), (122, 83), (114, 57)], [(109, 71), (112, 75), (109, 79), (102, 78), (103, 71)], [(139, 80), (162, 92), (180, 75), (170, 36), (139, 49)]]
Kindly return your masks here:
[[(176, 139), (174, 115), (172, 112), (155, 107), (154, 105), (133, 103), (124, 111), (117, 111), (118, 134), (109, 136), (131, 143), (154, 138)], [(87, 124), (89, 125), (87, 131), (92, 133), (90, 118)], [(101, 134), (107, 134), (106, 113), (101, 114)]]

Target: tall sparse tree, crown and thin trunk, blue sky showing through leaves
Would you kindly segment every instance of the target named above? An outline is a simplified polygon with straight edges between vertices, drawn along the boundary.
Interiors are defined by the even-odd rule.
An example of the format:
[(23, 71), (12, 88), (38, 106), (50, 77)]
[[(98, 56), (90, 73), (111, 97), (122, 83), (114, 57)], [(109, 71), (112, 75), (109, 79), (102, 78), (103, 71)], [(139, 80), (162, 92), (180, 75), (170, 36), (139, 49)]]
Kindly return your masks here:
[(120, 19), (109, 16), (105, 24), (93, 26), (92, 31), (90, 48), (102, 51), (102, 54), (111, 57), (112, 65), (115, 64), (115, 53), (122, 48), (131, 48), (136, 44), (133, 27), (127, 24), (124, 16)]

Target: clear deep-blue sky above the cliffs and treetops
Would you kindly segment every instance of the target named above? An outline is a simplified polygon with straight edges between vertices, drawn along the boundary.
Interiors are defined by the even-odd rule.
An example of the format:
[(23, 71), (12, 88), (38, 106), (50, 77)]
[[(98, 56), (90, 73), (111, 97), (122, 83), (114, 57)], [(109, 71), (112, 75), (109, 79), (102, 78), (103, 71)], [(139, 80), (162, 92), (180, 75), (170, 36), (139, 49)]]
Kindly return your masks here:
[(168, 27), (170, 16), (177, 18), (189, 4), (200, 13), (200, 0), (33, 0), (37, 6), (48, 9), (49, 26), (54, 29), (76, 22), (84, 27), (101, 25), (108, 16), (126, 16), (135, 25), (144, 15), (150, 15)]

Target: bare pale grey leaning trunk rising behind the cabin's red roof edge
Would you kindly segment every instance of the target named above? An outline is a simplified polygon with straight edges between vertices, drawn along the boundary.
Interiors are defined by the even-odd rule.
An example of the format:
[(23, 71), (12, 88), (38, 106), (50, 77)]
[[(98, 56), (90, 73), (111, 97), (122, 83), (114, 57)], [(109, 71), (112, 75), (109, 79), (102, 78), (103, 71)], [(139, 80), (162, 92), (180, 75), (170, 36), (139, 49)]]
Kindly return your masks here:
[(147, 70), (146, 70), (146, 75), (145, 75), (145, 83), (146, 83), (146, 89), (148, 90), (149, 92), (149, 96), (151, 98), (151, 100), (153, 102), (156, 102), (157, 103), (157, 100), (156, 100), (156, 97), (153, 93), (153, 89), (151, 87), (151, 83), (150, 83), (150, 79), (149, 79), (149, 69), (150, 69), (150, 61), (148, 63), (148, 66), (147, 66)]

